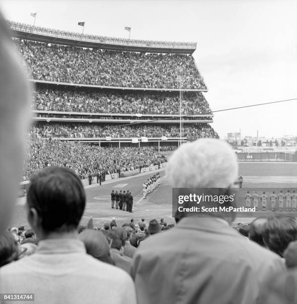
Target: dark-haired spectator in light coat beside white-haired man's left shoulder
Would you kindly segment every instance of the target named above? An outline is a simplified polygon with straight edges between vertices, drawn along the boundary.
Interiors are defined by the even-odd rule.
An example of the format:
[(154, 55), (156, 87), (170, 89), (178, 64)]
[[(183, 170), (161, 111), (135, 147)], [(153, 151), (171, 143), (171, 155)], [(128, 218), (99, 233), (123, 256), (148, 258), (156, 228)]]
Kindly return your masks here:
[(106, 237), (111, 244), (110, 255), (115, 265), (130, 274), (132, 258), (124, 255), (125, 235), (123, 228), (114, 228), (107, 232)]

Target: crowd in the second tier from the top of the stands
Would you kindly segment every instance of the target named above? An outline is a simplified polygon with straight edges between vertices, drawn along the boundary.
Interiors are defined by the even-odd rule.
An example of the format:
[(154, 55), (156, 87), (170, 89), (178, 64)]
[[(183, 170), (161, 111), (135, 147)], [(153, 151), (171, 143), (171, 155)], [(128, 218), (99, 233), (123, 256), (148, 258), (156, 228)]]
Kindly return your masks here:
[[(32, 109), (43, 111), (179, 114), (179, 107), (178, 92), (158, 92), (155, 94), (38, 86), (32, 98)], [(210, 112), (209, 104), (201, 92), (183, 93), (182, 114)]]

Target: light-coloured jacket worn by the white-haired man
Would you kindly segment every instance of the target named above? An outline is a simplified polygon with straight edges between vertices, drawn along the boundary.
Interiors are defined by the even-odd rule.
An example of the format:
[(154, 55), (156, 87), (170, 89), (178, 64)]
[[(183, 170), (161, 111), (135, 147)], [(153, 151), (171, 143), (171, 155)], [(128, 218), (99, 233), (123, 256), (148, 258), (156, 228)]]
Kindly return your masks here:
[(131, 274), (141, 304), (253, 304), (281, 258), (217, 218), (185, 218), (141, 242)]

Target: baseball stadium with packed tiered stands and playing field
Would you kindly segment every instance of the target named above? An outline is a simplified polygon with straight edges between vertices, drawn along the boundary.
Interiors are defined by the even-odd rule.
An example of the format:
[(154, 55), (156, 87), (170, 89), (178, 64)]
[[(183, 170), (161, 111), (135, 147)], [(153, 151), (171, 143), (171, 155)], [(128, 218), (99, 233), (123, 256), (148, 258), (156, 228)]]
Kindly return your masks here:
[[(183, 143), (218, 138), (204, 96), (208, 88), (192, 56), (197, 44), (7, 23), (34, 84), (34, 123), (28, 135), (22, 186), (44, 167), (66, 166), (85, 185), (82, 225), (91, 217), (97, 226), (112, 217), (119, 223), (131, 218), (129, 213), (111, 209), (112, 190), (133, 193), (136, 220), (164, 218), (174, 223), (166, 159)], [(294, 157), (277, 162), (273, 157), (239, 160), (243, 189), (257, 188), (262, 193), (274, 188), (278, 192), (296, 184)], [(145, 200), (143, 183), (154, 170), (160, 173), (161, 184)], [(98, 178), (96, 182), (98, 172), (104, 174), (102, 184)], [(26, 224), (24, 201), (19, 199), (14, 225)], [(265, 212), (249, 217), (269, 216), (269, 204)], [(237, 205), (245, 206), (244, 194)], [(240, 222), (250, 221), (237, 217)]]

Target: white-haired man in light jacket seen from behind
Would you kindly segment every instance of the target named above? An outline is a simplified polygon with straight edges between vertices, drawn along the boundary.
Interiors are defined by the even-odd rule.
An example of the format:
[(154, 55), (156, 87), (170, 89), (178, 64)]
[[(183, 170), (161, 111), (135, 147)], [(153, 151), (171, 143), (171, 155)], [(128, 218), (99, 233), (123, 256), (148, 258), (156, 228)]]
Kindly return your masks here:
[[(229, 188), (237, 174), (227, 143), (200, 139), (172, 154), (166, 175), (174, 188)], [(263, 281), (284, 263), (232, 229), (235, 216), (224, 216), (186, 215), (141, 243), (131, 271), (139, 303), (256, 303)]]

